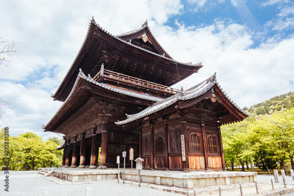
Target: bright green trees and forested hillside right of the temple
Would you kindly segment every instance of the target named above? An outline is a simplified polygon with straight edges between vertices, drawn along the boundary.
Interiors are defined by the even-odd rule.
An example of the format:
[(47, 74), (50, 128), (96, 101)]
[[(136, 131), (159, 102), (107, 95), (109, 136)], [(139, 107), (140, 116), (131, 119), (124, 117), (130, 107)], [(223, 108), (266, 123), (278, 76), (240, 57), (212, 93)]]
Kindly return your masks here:
[(262, 170), (294, 169), (294, 93), (243, 108), (250, 116), (242, 122), (222, 125), (227, 169), (234, 164), (242, 170), (255, 164)]

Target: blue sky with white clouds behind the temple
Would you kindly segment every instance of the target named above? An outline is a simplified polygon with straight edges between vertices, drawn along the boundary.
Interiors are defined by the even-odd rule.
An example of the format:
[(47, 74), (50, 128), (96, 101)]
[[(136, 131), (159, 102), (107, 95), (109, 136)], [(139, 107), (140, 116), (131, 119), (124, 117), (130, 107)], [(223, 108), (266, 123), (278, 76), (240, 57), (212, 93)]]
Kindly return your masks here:
[(20, 48), (11, 67), (0, 67), (0, 97), (13, 103), (0, 126), (9, 126), (11, 135), (56, 136), (41, 125), (62, 104), (50, 95), (74, 61), (92, 16), (112, 34), (137, 29), (148, 19), (174, 59), (203, 63), (199, 73), (181, 81), (184, 88), (216, 71), (223, 90), (241, 108), (294, 91), (293, 1), (4, 0), (0, 5), (5, 27), (0, 36)]

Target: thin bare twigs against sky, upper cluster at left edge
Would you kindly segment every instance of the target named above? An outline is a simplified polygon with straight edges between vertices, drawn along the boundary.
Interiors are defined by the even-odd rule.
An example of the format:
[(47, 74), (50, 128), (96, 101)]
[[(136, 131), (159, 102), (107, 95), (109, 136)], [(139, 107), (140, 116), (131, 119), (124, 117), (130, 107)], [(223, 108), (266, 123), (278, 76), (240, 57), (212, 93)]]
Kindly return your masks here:
[(14, 62), (13, 55), (16, 55), (16, 42), (9, 42), (7, 39), (0, 37), (0, 67), (8, 68), (9, 63)]

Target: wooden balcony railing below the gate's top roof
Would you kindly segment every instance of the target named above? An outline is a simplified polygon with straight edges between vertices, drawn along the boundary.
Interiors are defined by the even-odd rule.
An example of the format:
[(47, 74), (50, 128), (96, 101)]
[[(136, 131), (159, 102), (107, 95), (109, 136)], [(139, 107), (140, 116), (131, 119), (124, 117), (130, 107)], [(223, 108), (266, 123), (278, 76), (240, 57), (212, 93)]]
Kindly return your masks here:
[(168, 93), (173, 93), (173, 94), (178, 93), (177, 89), (174, 89), (174, 88), (171, 88), (168, 86), (163, 86), (161, 84), (156, 84), (156, 83), (142, 80), (139, 78), (135, 78), (132, 76), (127, 76), (127, 75), (117, 73), (114, 71), (106, 70), (106, 69), (104, 69), (104, 65), (102, 64), (100, 71), (96, 74), (96, 76), (94, 76), (93, 79), (95, 81), (98, 81), (100, 78), (104, 78), (104, 77), (115, 79), (117, 81), (135, 84), (135, 85), (146, 87), (146, 88), (151, 88), (151, 89), (153, 88), (156, 91), (163, 91), (163, 92), (168, 92)]

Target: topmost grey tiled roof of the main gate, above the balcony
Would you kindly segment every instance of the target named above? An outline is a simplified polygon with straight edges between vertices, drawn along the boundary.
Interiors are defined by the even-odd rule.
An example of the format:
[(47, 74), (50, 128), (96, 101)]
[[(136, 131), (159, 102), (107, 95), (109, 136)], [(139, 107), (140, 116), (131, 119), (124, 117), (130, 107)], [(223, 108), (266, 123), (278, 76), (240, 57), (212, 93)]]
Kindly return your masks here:
[[(163, 54), (158, 54), (153, 51), (149, 51), (145, 48), (133, 44), (130, 41), (124, 40), (127, 39), (127, 37), (130, 35), (136, 36), (144, 32), (147, 33), (146, 35), (148, 39), (157, 48), (157, 50)], [(79, 68), (82, 68), (83, 71), (86, 74), (88, 74), (90, 73), (92, 68), (96, 66), (101, 56), (104, 55), (103, 50), (98, 44), (99, 40), (102, 40), (103, 43), (107, 43), (108, 45), (111, 44), (111, 46), (115, 45), (115, 47), (117, 48), (123, 48), (121, 50), (126, 50), (128, 52), (128, 55), (136, 56), (136, 58), (142, 58), (142, 60), (145, 59), (144, 61), (146, 61), (147, 59), (149, 59), (150, 61), (151, 56), (156, 56), (156, 62), (153, 63), (155, 64), (155, 66), (166, 66), (166, 69), (169, 71), (175, 70), (173, 72), (176, 72), (176, 69), (178, 69), (179, 73), (182, 71), (182, 75), (180, 73), (181, 80), (187, 78), (193, 73), (197, 73), (198, 70), (203, 66), (202, 63), (182, 63), (171, 58), (168, 55), (168, 53), (157, 42), (156, 38), (154, 38), (153, 34), (150, 31), (150, 28), (148, 27), (147, 22), (144, 23), (144, 25), (142, 25), (142, 27), (139, 29), (115, 36), (106, 31), (105, 29), (103, 29), (102, 27), (100, 27), (100, 25), (97, 24), (94, 19), (92, 19), (88, 28), (88, 32), (86, 34), (86, 38), (84, 39), (83, 44), (78, 54), (76, 55), (76, 58), (74, 59), (74, 62), (72, 63), (71, 67), (66, 73), (66, 76), (62, 80), (54, 95), (51, 96), (54, 98), (54, 100), (65, 101), (66, 97), (69, 95), (71, 91), (72, 86), (74, 85), (75, 78), (78, 75)], [(138, 56), (137, 53), (135, 54), (133, 52), (133, 54), (130, 53), (130, 51), (136, 50), (141, 51), (143, 56)], [(151, 68), (154, 68), (154, 66), (151, 66)], [(171, 86), (176, 82), (178, 81), (173, 81), (171, 83), (166, 84), (165, 86)]]

